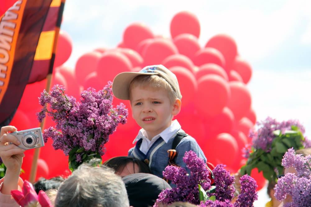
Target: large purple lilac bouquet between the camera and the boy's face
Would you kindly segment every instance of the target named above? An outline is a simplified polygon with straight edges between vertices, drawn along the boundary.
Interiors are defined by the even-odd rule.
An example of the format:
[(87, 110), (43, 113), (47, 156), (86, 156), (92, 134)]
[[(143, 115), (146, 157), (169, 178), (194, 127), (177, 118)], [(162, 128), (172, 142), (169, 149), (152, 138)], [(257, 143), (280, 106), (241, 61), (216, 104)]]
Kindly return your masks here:
[(54, 85), (50, 94), (44, 90), (39, 97), (43, 108), (37, 113), (38, 120), (42, 122), (47, 113), (56, 123), (55, 128), (44, 130), (44, 142), (51, 137), (53, 148), (69, 155), (71, 170), (94, 157), (101, 159), (109, 135), (115, 132), (119, 123), (126, 123), (128, 110), (125, 105), (121, 103), (113, 108), (111, 84), (109, 81), (98, 92), (94, 88), (81, 92), (80, 102), (67, 96), (61, 85)]

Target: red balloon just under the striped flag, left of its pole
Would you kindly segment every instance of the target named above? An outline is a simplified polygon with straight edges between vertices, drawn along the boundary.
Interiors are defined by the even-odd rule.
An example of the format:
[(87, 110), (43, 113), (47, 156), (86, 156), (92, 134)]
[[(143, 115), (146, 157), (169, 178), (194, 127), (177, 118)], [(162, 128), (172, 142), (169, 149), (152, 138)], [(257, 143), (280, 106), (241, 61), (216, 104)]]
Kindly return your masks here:
[(23, 96), (21, 97), (20, 105), (18, 109), (22, 110), (27, 114), (31, 110), (40, 110), (41, 105), (39, 104), (38, 97), (46, 87), (46, 79), (39, 82), (27, 84), (24, 90)]

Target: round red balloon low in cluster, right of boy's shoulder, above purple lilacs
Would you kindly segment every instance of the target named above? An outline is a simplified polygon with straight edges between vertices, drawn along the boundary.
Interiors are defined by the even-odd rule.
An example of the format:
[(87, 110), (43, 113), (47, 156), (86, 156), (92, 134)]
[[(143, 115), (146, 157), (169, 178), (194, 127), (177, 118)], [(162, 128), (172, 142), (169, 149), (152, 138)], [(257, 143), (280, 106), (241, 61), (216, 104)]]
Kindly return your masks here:
[(208, 140), (203, 151), (209, 162), (231, 166), (238, 155), (238, 144), (231, 134), (221, 133)]

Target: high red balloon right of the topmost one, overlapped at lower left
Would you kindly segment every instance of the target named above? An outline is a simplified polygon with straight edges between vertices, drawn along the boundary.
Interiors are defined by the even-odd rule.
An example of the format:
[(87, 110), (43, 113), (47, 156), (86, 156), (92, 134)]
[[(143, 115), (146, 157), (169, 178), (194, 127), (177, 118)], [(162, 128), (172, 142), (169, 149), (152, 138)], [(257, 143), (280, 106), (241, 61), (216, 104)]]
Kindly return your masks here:
[[(213, 47), (225, 58), (226, 68), (234, 61), (235, 56), (238, 54), (237, 46), (233, 38), (226, 34), (218, 34), (212, 37), (206, 43), (205, 47)], [(228, 73), (229, 71), (227, 71)]]

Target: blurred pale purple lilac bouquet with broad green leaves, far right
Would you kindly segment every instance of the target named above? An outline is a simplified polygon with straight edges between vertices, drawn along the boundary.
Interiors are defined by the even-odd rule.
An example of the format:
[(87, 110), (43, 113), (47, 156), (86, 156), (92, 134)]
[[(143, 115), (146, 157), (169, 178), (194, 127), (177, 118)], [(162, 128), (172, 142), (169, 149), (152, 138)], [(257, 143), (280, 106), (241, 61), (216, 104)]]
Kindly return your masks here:
[(309, 147), (311, 143), (303, 136), (304, 127), (297, 120), (277, 122), (268, 117), (257, 125), (258, 130), (249, 135), (253, 145), (244, 149), (248, 160), (240, 173), (250, 174), (253, 168), (258, 168), (269, 182), (276, 181), (283, 173), (281, 160), (285, 152), (291, 147), (296, 150)]

